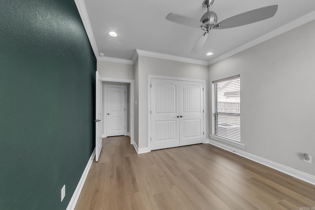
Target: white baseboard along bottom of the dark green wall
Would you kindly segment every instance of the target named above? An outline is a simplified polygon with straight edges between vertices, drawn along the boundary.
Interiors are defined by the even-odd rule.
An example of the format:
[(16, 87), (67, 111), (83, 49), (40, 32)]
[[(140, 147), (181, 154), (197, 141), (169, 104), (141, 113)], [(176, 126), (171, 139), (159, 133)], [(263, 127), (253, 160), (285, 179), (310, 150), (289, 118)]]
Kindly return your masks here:
[(77, 201), (79, 199), (79, 196), (80, 196), (83, 184), (84, 184), (85, 180), (87, 179), (87, 176), (88, 176), (88, 173), (90, 171), (91, 165), (93, 163), (94, 157), (95, 157), (95, 149), (94, 149), (94, 151), (91, 154), (91, 157), (90, 157), (90, 159), (88, 161), (88, 164), (87, 164), (87, 166), (85, 167), (85, 169), (83, 171), (81, 179), (79, 180), (79, 183), (78, 183), (77, 187), (74, 190), (74, 193), (73, 193), (73, 195), (71, 197), (71, 200), (70, 200), (66, 210), (74, 210), (75, 205), (77, 204)]

